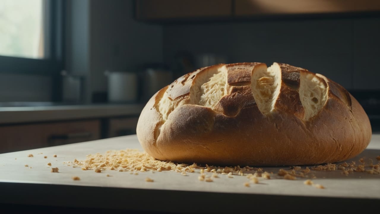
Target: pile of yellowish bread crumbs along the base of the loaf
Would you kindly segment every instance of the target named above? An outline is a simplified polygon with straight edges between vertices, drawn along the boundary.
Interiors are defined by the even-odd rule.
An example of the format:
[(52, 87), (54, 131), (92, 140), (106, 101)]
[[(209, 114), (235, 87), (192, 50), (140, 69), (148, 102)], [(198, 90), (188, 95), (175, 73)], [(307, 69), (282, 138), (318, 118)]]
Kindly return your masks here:
[[(377, 158), (377, 157), (376, 157)], [(378, 159), (378, 158), (377, 158)], [(254, 168), (250, 166), (240, 167), (220, 167), (220, 166), (200, 166), (196, 163), (193, 164), (176, 164), (171, 161), (160, 161), (151, 157), (146, 152), (140, 152), (137, 149), (126, 150), (112, 150), (106, 152), (105, 155), (97, 153), (95, 155), (87, 155), (86, 160), (63, 162), (68, 166), (81, 167), (82, 170), (93, 170), (95, 172), (102, 172), (106, 170), (114, 171), (130, 171), (130, 174), (138, 175), (138, 171), (176, 171), (180, 172), (182, 176), (188, 176), (188, 172), (199, 172), (198, 180), (205, 182), (213, 182), (215, 178), (219, 178), (218, 174), (225, 174), (228, 178), (234, 178), (234, 176), (246, 176), (249, 182), (245, 182), (245, 187), (250, 187), (250, 184), (258, 184), (258, 178), (263, 179), (287, 179), (298, 180), (299, 178), (317, 178), (312, 171), (336, 171), (342, 170), (342, 174), (348, 176), (354, 172), (367, 172), (369, 174), (380, 174), (380, 164), (373, 164), (371, 159), (364, 160), (361, 158), (359, 164), (355, 161), (351, 163), (338, 163), (338, 164), (323, 164), (313, 166), (311, 168), (301, 168), (301, 166), (292, 166), (290, 169), (279, 169), (277, 175), (274, 176), (273, 172), (269, 173), (263, 171), (261, 168)], [(211, 172), (212, 174), (206, 174)], [(250, 172), (254, 172), (253, 174)], [(249, 174), (248, 174), (249, 173)], [(109, 175), (107, 175), (109, 176)], [(310, 179), (307, 179), (304, 184), (310, 185), (315, 188), (325, 188), (323, 185), (314, 184)], [(146, 178), (146, 182), (153, 182), (153, 179)]]

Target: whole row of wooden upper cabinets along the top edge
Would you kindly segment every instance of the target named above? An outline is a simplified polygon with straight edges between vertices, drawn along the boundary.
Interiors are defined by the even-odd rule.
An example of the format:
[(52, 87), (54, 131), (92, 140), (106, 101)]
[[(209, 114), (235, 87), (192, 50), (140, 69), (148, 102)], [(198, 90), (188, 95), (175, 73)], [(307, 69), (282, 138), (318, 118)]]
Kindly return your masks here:
[(225, 20), (378, 11), (378, 0), (135, 0), (135, 17), (139, 21)]

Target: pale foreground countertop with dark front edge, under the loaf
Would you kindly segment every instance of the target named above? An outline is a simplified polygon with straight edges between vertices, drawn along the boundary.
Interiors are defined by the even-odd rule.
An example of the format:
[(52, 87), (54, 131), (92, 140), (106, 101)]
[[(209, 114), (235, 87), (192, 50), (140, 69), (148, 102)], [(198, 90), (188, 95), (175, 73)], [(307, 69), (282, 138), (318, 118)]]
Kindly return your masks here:
[[(142, 150), (136, 135), (0, 154), (0, 204), (208, 213), (308, 209), (310, 213), (328, 206), (363, 211), (380, 203), (380, 174), (366, 172), (345, 176), (341, 170), (312, 171), (316, 176), (313, 182), (325, 187), (319, 189), (304, 185), (307, 178), (285, 180), (277, 176), (280, 168), (288, 167), (264, 167), (264, 171), (274, 172), (271, 179), (260, 177), (259, 184), (245, 187), (244, 182), (249, 181), (245, 176), (219, 175), (214, 182), (201, 182), (198, 171), (188, 176), (175, 171), (95, 173), (63, 163), (126, 148)], [(377, 155), (380, 135), (374, 134), (367, 149), (352, 160), (358, 163), (359, 158), (366, 157), (377, 164)], [(48, 162), (58, 167), (59, 173), (52, 173)], [(81, 180), (71, 179), (73, 176)], [(154, 182), (146, 182), (146, 177)]]

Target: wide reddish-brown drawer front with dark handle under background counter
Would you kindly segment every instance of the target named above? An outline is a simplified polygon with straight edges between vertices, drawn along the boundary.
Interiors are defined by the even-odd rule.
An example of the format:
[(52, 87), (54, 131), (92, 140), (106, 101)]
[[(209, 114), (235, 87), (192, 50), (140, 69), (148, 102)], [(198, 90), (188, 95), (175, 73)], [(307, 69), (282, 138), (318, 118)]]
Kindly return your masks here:
[(100, 120), (0, 126), (0, 153), (100, 139)]

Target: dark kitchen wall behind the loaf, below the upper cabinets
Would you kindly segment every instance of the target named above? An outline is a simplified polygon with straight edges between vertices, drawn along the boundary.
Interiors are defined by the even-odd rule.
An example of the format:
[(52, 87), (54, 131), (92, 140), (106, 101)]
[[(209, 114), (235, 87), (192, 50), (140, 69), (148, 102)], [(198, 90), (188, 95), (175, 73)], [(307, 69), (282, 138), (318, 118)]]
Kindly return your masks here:
[(166, 25), (164, 61), (178, 51), (217, 53), (228, 62), (285, 62), (348, 89), (380, 89), (380, 19), (247, 21)]

